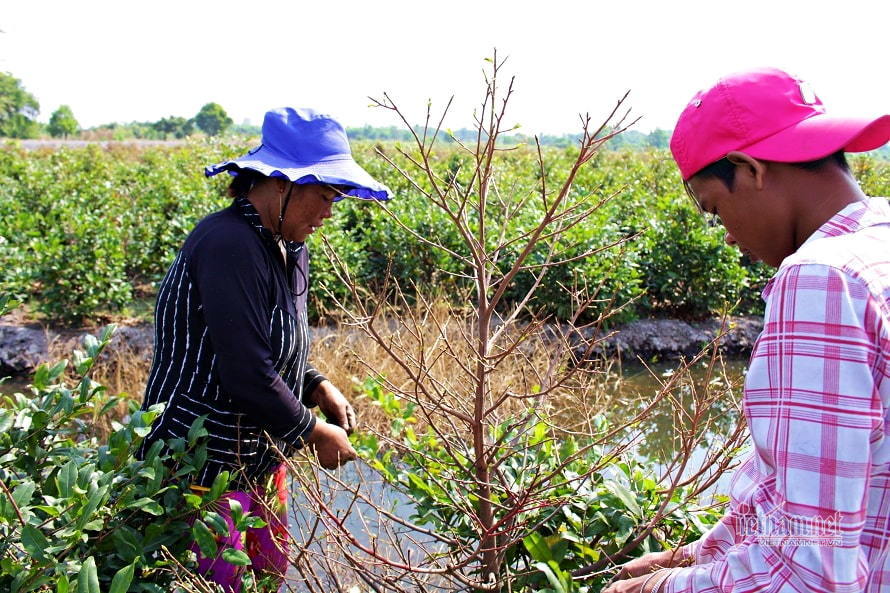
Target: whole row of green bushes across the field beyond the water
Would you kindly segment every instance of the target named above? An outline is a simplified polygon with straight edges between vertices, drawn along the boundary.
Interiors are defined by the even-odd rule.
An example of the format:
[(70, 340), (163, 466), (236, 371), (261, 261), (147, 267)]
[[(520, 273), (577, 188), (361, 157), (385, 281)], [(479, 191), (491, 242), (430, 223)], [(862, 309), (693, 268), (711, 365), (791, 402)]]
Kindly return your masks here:
[[(233, 141), (41, 151), (7, 145), (0, 152), (0, 289), (27, 298), (62, 322), (101, 316), (131, 303), (135, 294), (152, 293), (188, 231), (228, 203), (225, 176), (207, 180), (203, 167), (246, 148)], [(410, 169), (395, 145), (379, 148)], [(574, 150), (544, 151), (544, 181), (569, 166)], [(408, 227), (447, 246), (459, 245), (453, 225), (375, 154), (374, 145), (359, 143), (354, 152), (394, 190), (390, 206)], [(432, 158), (443, 177), (469, 182), (472, 168), (458, 149), (442, 149)], [(497, 167), (495, 191), (505, 199), (525, 198), (541, 186), (542, 172), (530, 148), (503, 153)], [(857, 158), (854, 169), (868, 193), (890, 194), (887, 162)], [(620, 304), (639, 297), (616, 320), (650, 314), (704, 316), (736, 302), (741, 313), (759, 311), (759, 289), (768, 271), (727, 247), (722, 229), (705, 225), (683, 194), (666, 152), (603, 152), (582, 170), (575, 191), (620, 195), (568, 233), (559, 246), (566, 255), (635, 238), (551, 269), (534, 308), (566, 317), (572, 307), (567, 289), (587, 286), (604, 301)], [(501, 224), (511, 233), (529, 228), (540, 208), (540, 200), (532, 199)], [(468, 294), (460, 280), (463, 270), (454, 260), (395, 225), (374, 204), (341, 202), (324, 232), (370, 290), (379, 288), (391, 265), (395, 277), (415, 283), (403, 287), (409, 298), (417, 288), (455, 301)], [(310, 246), (315, 253), (313, 296), (329, 308), (324, 307), (326, 292), (344, 297), (347, 289), (321, 255), (318, 239), (310, 239)], [(543, 252), (532, 260), (536, 258), (543, 261)], [(521, 298), (531, 282), (531, 275), (518, 278), (509, 294)]]

